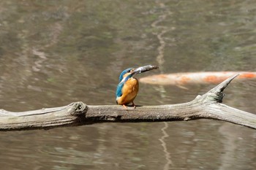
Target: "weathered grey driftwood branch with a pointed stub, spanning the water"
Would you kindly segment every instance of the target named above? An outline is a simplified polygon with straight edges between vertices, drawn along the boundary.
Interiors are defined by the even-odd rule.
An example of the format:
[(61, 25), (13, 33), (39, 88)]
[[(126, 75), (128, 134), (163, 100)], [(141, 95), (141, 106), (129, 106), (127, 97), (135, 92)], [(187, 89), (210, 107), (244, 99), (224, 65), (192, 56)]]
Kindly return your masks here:
[(117, 105), (90, 106), (75, 102), (64, 107), (29, 112), (0, 110), (0, 131), (55, 128), (102, 122), (154, 122), (208, 118), (256, 129), (256, 115), (221, 104), (223, 90), (238, 75), (228, 78), (203, 96), (184, 104), (143, 106), (133, 109)]

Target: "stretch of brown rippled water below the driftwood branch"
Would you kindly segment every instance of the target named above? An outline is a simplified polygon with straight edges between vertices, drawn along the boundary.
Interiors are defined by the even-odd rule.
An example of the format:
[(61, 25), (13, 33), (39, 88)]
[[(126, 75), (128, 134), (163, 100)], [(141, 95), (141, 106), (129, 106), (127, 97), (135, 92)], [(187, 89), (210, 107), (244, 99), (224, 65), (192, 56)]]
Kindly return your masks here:
[[(164, 127), (168, 136), (161, 131)], [(230, 169), (235, 163), (235, 169), (254, 169), (252, 134), (254, 130), (211, 120), (8, 132), (1, 134), (1, 165), (4, 169)]]

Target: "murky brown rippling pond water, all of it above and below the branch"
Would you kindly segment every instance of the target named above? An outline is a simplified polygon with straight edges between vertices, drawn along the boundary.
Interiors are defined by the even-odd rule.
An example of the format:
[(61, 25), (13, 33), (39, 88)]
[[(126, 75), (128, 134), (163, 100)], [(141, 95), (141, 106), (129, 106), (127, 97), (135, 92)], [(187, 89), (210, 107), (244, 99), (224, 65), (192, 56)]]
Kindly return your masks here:
[[(1, 1), (0, 105), (115, 104), (118, 74), (255, 72), (255, 1)], [(148, 72), (146, 74), (153, 74)], [(213, 86), (140, 85), (137, 104), (192, 100)], [(224, 103), (255, 110), (255, 81)], [(151, 98), (151, 100), (148, 100)], [(101, 123), (0, 134), (2, 169), (255, 169), (255, 130), (214, 120)]]

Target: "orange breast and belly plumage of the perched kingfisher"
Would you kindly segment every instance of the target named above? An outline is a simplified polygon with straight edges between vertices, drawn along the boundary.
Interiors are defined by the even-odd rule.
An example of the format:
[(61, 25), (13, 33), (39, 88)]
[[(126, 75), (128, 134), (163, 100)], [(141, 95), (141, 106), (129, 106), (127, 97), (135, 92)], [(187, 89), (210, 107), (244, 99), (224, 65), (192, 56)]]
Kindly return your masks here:
[(137, 96), (139, 90), (139, 82), (137, 79), (131, 77), (127, 82), (124, 83), (122, 89), (122, 96), (117, 98), (118, 104), (129, 104)]

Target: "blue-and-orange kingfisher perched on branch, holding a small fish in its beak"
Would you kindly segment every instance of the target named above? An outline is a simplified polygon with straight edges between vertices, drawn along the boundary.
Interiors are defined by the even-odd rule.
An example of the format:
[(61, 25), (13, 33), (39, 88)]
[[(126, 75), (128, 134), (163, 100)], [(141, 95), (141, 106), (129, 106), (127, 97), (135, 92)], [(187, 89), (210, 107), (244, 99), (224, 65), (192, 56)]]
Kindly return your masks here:
[(129, 68), (121, 72), (119, 84), (116, 88), (116, 104), (123, 105), (127, 109), (127, 105), (132, 103), (132, 107), (135, 108), (134, 99), (139, 91), (139, 82), (133, 76), (142, 72), (148, 72), (151, 69), (158, 69), (158, 66), (140, 66), (137, 69)]

